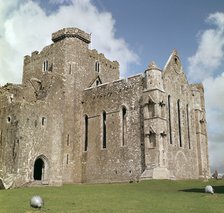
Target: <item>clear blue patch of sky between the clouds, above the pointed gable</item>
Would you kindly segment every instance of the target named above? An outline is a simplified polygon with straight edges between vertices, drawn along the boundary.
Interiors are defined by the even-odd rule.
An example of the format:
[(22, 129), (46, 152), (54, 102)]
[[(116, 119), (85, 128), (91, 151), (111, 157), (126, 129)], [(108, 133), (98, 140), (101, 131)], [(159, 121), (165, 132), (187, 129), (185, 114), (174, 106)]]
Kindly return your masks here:
[[(186, 70), (188, 57), (197, 50), (197, 36), (208, 28), (209, 14), (224, 11), (220, 0), (94, 0), (100, 11), (116, 20), (116, 36), (123, 37), (140, 58), (129, 73), (142, 72), (149, 60), (164, 67), (176, 48)], [(140, 65), (140, 66), (139, 66)]]

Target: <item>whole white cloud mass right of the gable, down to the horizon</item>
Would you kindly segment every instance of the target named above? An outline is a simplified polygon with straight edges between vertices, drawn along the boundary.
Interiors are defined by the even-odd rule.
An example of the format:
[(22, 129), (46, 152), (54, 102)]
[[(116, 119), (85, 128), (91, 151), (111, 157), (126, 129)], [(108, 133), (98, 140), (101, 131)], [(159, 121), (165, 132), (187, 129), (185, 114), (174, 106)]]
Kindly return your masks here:
[(209, 15), (207, 22), (214, 28), (201, 32), (189, 77), (203, 81), (211, 168), (224, 172), (224, 13)]

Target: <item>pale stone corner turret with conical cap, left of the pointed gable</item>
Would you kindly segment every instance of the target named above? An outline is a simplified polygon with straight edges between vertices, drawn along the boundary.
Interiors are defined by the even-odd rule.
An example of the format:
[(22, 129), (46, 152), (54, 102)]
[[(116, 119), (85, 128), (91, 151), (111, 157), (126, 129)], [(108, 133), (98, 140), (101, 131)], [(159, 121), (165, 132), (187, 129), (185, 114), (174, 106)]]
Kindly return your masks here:
[(167, 120), (162, 71), (154, 62), (145, 71), (143, 91), (145, 170), (141, 179), (169, 179), (166, 161)]

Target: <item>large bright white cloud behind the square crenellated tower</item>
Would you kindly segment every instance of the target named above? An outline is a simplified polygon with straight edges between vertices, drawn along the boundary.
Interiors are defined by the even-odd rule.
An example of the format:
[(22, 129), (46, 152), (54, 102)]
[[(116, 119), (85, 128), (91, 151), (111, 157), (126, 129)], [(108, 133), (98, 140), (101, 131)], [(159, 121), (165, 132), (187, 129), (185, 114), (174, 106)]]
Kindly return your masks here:
[[(92, 48), (111, 60), (120, 62), (121, 74), (129, 63), (138, 57), (124, 39), (115, 36), (115, 20), (108, 12), (99, 12), (91, 0), (72, 0), (69, 5), (59, 5), (57, 11), (46, 14), (38, 3), (31, 0), (1, 1), (0, 8), (0, 84), (20, 82), (23, 56), (41, 50), (50, 44), (51, 33), (64, 27), (79, 27), (92, 33)], [(13, 6), (12, 2), (19, 2)], [(56, 0), (63, 4), (67, 0)]]

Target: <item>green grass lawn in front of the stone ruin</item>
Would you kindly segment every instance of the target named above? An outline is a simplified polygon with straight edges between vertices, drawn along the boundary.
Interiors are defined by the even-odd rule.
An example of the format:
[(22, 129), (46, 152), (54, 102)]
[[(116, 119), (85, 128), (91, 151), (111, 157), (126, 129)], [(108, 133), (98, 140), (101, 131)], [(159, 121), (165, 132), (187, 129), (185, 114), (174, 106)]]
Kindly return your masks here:
[[(212, 185), (215, 194), (204, 193)], [(44, 207), (29, 206), (40, 195)], [(224, 181), (151, 180), (139, 183), (83, 184), (0, 190), (0, 213), (224, 212)]]

